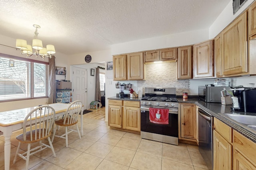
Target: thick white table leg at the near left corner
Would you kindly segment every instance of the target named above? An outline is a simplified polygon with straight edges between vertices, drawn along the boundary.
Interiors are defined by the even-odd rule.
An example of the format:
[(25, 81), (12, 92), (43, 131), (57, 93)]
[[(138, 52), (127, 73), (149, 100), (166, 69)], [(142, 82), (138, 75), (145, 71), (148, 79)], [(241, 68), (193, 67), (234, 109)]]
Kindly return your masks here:
[(4, 131), (4, 170), (10, 169), (12, 131)]

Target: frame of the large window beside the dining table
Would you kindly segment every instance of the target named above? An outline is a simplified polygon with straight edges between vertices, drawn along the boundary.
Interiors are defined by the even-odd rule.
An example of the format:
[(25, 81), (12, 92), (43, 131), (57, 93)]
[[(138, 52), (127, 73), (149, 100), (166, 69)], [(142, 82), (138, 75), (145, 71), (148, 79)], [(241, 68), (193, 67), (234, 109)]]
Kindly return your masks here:
[[(3, 58), (8, 58), (8, 59), (16, 59), (16, 60), (20, 60), (20, 61), (26, 61), (26, 62), (30, 62), (31, 67), (33, 67), (32, 70), (30, 70), (30, 96), (28, 98), (13, 98), (13, 99), (7, 99), (7, 100), (0, 100), (0, 103), (2, 102), (13, 102), (13, 101), (20, 101), (20, 100), (31, 100), (31, 99), (40, 99), (40, 98), (48, 98), (49, 97), (49, 63), (45, 62), (45, 61), (38, 61), (38, 60), (33, 60), (33, 59), (27, 59), (27, 58), (23, 58), (23, 57), (17, 57), (17, 56), (13, 56), (13, 55), (8, 55), (8, 54), (3, 54), (0, 53), (0, 56)], [(46, 64), (48, 65), (46, 67), (46, 86), (45, 86), (45, 90), (46, 90), (46, 95), (45, 96), (34, 96), (34, 63), (37, 64)], [(48, 69), (48, 70), (47, 70)]]

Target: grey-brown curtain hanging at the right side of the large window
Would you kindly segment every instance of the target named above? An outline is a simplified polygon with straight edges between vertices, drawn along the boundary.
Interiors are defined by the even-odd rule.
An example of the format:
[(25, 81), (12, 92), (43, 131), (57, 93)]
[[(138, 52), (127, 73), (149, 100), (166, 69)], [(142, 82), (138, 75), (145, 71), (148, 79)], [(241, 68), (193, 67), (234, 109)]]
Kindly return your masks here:
[(55, 57), (49, 58), (49, 90), (48, 104), (55, 103), (56, 100), (56, 80), (55, 80)]

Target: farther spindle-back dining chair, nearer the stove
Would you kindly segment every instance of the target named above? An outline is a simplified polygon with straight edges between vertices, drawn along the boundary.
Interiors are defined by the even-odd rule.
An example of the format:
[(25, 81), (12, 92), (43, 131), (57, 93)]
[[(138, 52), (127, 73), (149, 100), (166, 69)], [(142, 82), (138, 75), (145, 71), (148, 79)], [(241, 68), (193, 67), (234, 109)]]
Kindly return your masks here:
[[(60, 137), (62, 139), (66, 139), (66, 147), (68, 147), (68, 134), (73, 131), (77, 132), (79, 135), (79, 138), (81, 139), (80, 131), (77, 125), (79, 113), (83, 114), (81, 109), (82, 109), (82, 102), (80, 100), (74, 101), (68, 106), (63, 119), (59, 119), (54, 122), (56, 126), (54, 128), (54, 132), (52, 135), (52, 142), (54, 140), (54, 137)], [(76, 130), (70, 129), (70, 126), (72, 125), (76, 125)], [(58, 126), (65, 127), (65, 133), (61, 136), (56, 135), (56, 128)]]

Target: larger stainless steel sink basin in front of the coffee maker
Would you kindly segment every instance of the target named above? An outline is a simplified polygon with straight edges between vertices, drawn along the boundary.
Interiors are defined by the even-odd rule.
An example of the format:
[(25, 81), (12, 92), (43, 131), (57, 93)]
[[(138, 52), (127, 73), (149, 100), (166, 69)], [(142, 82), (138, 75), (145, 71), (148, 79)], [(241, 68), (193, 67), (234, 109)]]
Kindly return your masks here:
[[(256, 116), (251, 115), (235, 115), (235, 114), (225, 114), (230, 119), (237, 121), (239, 123), (243, 123), (246, 125), (256, 125)], [(254, 127), (256, 129), (256, 126)]]

